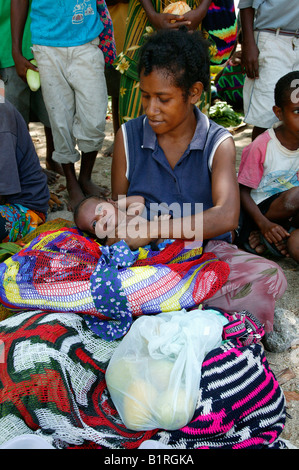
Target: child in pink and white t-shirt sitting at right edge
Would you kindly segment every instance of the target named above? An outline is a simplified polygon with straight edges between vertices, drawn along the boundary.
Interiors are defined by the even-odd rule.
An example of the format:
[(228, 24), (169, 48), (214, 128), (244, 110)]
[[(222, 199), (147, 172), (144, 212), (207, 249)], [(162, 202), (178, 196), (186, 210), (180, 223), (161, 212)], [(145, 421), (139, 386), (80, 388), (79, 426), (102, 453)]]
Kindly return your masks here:
[[(299, 262), (299, 71), (278, 80), (273, 111), (279, 123), (242, 153), (238, 181), (248, 251), (266, 248)], [(297, 87), (297, 88), (296, 88)]]

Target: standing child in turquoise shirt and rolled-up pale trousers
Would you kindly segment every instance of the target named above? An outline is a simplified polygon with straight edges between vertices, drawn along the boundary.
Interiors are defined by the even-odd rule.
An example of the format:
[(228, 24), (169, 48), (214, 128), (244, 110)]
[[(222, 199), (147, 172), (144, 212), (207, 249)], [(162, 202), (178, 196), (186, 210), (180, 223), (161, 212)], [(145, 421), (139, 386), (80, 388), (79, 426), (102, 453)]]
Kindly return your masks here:
[[(21, 50), (28, 6), (28, 0), (11, 1), (13, 58), (24, 80), (27, 69), (34, 68)], [(103, 23), (96, 0), (32, 0), (30, 16), (33, 53), (54, 138), (53, 160), (62, 165), (74, 208), (85, 194), (108, 194), (91, 179), (105, 137), (108, 103), (104, 55), (98, 47)], [(77, 179), (75, 163), (80, 158)]]

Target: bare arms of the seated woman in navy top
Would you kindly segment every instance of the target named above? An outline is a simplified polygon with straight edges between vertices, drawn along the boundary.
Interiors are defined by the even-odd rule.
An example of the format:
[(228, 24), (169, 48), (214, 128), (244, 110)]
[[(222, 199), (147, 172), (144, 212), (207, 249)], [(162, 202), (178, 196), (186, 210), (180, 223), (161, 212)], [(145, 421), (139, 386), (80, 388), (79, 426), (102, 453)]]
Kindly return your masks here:
[[(126, 157), (121, 129), (115, 139), (112, 161), (112, 198), (125, 195), (129, 182), (125, 176)], [(231, 138), (219, 146), (212, 167), (212, 198), (214, 206), (202, 214), (170, 220), (145, 221), (138, 236), (126, 238), (128, 245), (138, 248), (160, 238), (207, 240), (238, 226), (240, 197), (235, 171), (235, 146)], [(109, 240), (109, 244), (117, 239)]]

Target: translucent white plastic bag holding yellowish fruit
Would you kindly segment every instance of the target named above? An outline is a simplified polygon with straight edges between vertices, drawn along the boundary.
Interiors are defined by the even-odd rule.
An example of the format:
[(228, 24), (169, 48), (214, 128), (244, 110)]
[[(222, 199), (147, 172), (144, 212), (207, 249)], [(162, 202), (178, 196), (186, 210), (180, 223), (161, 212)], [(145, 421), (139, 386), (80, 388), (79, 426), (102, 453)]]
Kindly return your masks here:
[(215, 310), (142, 316), (113, 353), (106, 383), (128, 429), (175, 430), (192, 418), (201, 365), (222, 341), (226, 319)]

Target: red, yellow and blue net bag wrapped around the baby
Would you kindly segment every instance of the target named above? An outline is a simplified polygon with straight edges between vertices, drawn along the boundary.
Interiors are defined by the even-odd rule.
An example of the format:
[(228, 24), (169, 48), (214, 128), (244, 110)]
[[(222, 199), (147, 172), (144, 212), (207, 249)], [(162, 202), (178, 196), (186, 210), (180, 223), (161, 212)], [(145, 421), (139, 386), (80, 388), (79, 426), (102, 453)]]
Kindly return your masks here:
[(77, 229), (41, 233), (0, 263), (0, 302), (13, 310), (75, 312), (108, 340), (133, 317), (186, 310), (226, 282), (229, 266), (201, 244), (176, 240), (161, 251), (101, 246)]

